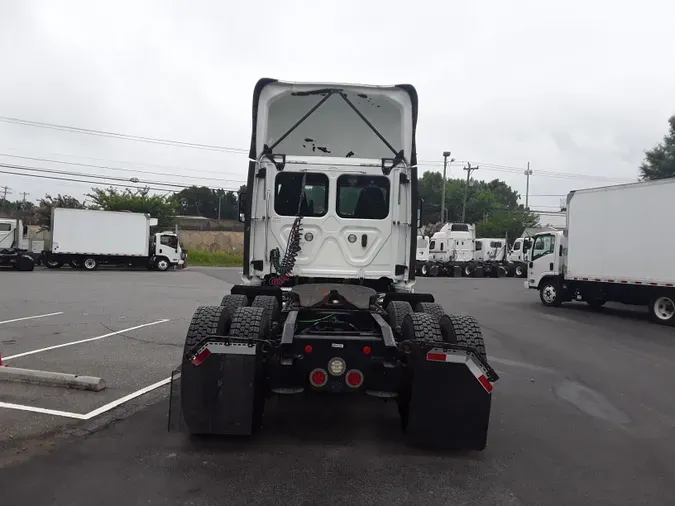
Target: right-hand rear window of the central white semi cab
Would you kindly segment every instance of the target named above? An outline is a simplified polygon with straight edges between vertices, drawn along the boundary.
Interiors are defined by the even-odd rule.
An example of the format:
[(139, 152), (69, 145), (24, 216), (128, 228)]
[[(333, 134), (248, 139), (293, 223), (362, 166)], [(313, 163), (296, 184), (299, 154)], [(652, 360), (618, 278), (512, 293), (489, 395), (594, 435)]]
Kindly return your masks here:
[(340, 218), (385, 219), (389, 215), (389, 179), (383, 176), (340, 176), (337, 214)]

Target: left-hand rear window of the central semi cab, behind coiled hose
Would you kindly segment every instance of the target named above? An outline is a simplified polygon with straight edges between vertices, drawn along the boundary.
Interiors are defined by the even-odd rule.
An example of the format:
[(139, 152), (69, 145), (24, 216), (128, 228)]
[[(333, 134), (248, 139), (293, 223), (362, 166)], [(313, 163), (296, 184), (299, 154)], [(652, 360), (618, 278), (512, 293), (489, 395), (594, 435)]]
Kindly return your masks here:
[(307, 173), (305, 198), (302, 195), (302, 172), (281, 172), (274, 185), (274, 212), (281, 216), (324, 216), (328, 211), (328, 177)]

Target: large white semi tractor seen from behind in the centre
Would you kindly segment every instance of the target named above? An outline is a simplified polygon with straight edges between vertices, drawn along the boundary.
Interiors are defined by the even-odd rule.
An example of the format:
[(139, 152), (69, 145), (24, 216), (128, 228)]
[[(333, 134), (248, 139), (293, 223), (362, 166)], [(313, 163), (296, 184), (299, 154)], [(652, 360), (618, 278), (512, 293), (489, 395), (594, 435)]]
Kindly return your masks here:
[(251, 435), (271, 396), (365, 395), (413, 443), (485, 448), (480, 326), (413, 290), (417, 110), (411, 85), (258, 82), (242, 283), (194, 313), (170, 430)]

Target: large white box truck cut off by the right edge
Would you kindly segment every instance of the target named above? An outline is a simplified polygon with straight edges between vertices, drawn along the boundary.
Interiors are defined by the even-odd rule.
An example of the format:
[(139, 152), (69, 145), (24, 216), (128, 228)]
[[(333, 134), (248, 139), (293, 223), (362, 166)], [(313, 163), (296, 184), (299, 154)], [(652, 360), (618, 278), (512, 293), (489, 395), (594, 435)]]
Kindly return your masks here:
[(645, 305), (675, 325), (674, 217), (675, 178), (573, 191), (567, 229), (534, 236), (525, 286), (546, 306)]

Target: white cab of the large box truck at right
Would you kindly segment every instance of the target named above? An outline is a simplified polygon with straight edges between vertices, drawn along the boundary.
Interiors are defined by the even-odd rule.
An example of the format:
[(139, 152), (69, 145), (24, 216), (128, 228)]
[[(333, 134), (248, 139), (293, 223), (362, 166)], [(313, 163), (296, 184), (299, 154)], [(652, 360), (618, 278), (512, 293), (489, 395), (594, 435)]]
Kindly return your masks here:
[(549, 231), (536, 234), (532, 238), (532, 249), (528, 265), (525, 287), (540, 290), (542, 299), (561, 300), (564, 274), (565, 236), (562, 231)]

